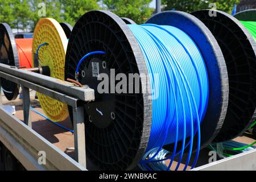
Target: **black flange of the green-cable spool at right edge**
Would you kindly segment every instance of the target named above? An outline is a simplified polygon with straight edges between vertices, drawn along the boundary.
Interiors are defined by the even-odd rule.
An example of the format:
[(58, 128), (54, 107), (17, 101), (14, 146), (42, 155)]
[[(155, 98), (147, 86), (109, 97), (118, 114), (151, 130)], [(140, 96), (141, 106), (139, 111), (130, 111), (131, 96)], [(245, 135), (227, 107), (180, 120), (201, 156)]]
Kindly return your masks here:
[(256, 43), (249, 31), (229, 14), (201, 10), (192, 15), (209, 28), (225, 57), (229, 104), (221, 131), (214, 139), (224, 142), (242, 134), (255, 119), (252, 117), (256, 106)]

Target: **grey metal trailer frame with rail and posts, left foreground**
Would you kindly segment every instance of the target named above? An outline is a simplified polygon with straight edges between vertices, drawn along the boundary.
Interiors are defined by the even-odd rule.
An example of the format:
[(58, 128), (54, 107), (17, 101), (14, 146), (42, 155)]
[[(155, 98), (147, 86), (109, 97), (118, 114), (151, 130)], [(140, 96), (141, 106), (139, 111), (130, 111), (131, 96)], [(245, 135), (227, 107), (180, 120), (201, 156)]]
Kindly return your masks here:
[[(86, 169), (86, 150), (85, 150), (85, 125), (84, 125), (84, 107), (82, 105), (85, 102), (93, 101), (94, 100), (94, 90), (90, 89), (88, 86), (83, 86), (80, 88), (79, 86), (75, 86), (70, 82), (66, 82), (63, 80), (59, 80), (56, 78), (47, 77), (44, 75), (39, 75), (38, 73), (24, 71), (22, 69), (16, 69), (15, 67), (10, 67), (9, 65), (0, 64), (0, 79), (5, 78), (6, 80), (10, 80), (15, 82), (16, 84), (22, 85), (23, 90), (23, 110), (24, 110), (24, 125), (26, 125), (25, 129), (24, 126), (20, 126), (20, 121), (18, 119), (14, 119), (12, 115), (6, 113), (4, 109), (0, 107), (0, 140), (6, 147), (13, 153), (13, 155), (21, 160), (20, 162), (23, 164), (24, 167), (27, 169), (43, 169), (42, 167), (38, 167), (38, 164), (35, 162), (35, 159), (32, 161), (30, 159), (23, 159), (24, 157), (28, 158), (27, 154), (23, 154), (24, 152), (30, 153), (28, 150), (28, 145), (30, 147), (34, 147), (32, 145), (35, 144), (39, 148), (42, 146), (46, 148), (53, 148), (56, 150), (56, 147), (53, 147), (52, 144), (46, 142), (46, 139), (43, 139), (39, 134), (36, 134), (34, 130), (31, 129), (31, 116), (30, 116), (30, 90), (33, 89), (36, 92), (40, 92), (45, 94), (46, 96), (55, 98), (73, 108), (73, 123), (74, 123), (74, 139), (75, 139), (75, 160), (81, 165), (77, 168), (77, 164), (69, 163), (75, 165), (75, 169)], [(0, 85), (1, 88), (1, 85)], [(0, 105), (1, 105), (2, 96), (0, 96)], [(2, 114), (3, 113), (3, 114)], [(9, 118), (8, 116), (9, 115)], [(12, 120), (11, 123), (6, 122)], [(15, 122), (18, 122), (17, 125), (23, 127), (20, 129), (15, 127)], [(22, 131), (23, 130), (23, 131)], [(26, 131), (26, 132), (25, 132)], [(30, 134), (27, 134), (30, 132)], [(4, 134), (5, 133), (5, 134)], [(15, 133), (15, 134), (12, 134)], [(9, 134), (9, 135), (8, 135)], [(31, 135), (31, 138), (28, 137)], [(28, 142), (28, 140), (33, 139), (32, 135), (36, 135), (34, 137), (38, 137), (40, 140), (39, 143), (35, 142)], [(8, 136), (8, 137), (7, 137)], [(19, 136), (16, 138), (16, 136)], [(9, 140), (8, 140), (9, 139)], [(23, 139), (23, 140), (20, 140)], [(14, 142), (12, 144), (11, 140), (19, 140), (19, 142)], [(25, 142), (24, 142), (25, 140)], [(26, 143), (27, 142), (27, 143)], [(46, 143), (48, 146), (46, 146)], [(42, 145), (42, 146), (40, 146)], [(44, 150), (44, 148), (42, 148)], [(36, 150), (38, 151), (38, 150)], [(22, 154), (20, 154), (20, 152)], [(68, 161), (70, 161), (69, 157), (62, 152), (61, 156)], [(60, 151), (57, 150), (56, 155), (60, 155)], [(30, 154), (31, 156), (35, 157), (35, 154)], [(30, 156), (30, 158), (31, 158)], [(37, 157), (37, 156), (36, 156)], [(53, 162), (54, 163), (53, 163)], [(58, 163), (54, 158), (50, 163), (55, 164)], [(34, 166), (33, 166), (34, 165)], [(54, 166), (54, 165), (53, 165)], [(83, 168), (84, 167), (84, 168)], [(48, 166), (47, 168), (51, 168)], [(61, 165), (58, 166), (56, 169), (60, 169)], [(62, 167), (65, 168), (65, 167)]]

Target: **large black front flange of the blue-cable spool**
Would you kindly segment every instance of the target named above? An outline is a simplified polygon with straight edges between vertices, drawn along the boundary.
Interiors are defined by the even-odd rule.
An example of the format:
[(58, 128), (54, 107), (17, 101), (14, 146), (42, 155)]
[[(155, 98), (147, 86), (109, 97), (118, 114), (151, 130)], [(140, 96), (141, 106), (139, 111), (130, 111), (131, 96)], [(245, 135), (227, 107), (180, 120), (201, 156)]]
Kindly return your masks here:
[[(99, 73), (107, 75), (110, 69), (115, 69), (116, 74), (148, 75), (146, 63), (130, 28), (109, 11), (90, 11), (73, 27), (67, 48), (65, 79), (75, 78), (76, 65), (92, 51), (105, 51), (106, 54), (93, 55), (80, 67), (80, 73), (84, 71), (85, 75), (80, 74), (79, 81), (93, 88), (96, 98), (95, 102), (84, 105), (86, 155), (94, 164), (89, 168), (133, 169), (142, 159), (150, 135), (152, 103), (148, 93), (151, 92), (99, 94), (97, 85), (101, 81), (93, 77), (92, 69), (97, 67)], [(139, 84), (145, 89), (141, 82)], [(146, 89), (150, 91), (148, 86)], [(101, 110), (103, 115), (96, 110)]]

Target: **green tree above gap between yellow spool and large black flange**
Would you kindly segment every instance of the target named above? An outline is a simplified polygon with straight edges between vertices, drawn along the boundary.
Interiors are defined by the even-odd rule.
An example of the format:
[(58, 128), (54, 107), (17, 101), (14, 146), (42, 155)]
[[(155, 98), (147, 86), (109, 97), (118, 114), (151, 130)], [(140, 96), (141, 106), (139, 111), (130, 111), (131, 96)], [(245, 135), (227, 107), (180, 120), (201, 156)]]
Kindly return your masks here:
[(88, 11), (100, 9), (97, 0), (60, 0), (65, 22), (75, 25), (81, 15)]

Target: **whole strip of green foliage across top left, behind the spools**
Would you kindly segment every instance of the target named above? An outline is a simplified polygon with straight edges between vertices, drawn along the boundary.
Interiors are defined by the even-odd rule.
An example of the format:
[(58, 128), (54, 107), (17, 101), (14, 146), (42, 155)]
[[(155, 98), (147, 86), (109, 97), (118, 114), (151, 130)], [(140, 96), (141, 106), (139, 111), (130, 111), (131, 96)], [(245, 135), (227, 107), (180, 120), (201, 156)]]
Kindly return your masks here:
[[(0, 0), (0, 22), (22, 30), (34, 30), (38, 20), (44, 17), (74, 25), (87, 11), (99, 9), (97, 2), (98, 0)], [(42, 3), (46, 7), (45, 16), (39, 16)]]

